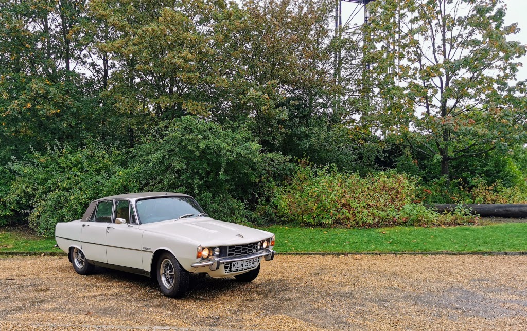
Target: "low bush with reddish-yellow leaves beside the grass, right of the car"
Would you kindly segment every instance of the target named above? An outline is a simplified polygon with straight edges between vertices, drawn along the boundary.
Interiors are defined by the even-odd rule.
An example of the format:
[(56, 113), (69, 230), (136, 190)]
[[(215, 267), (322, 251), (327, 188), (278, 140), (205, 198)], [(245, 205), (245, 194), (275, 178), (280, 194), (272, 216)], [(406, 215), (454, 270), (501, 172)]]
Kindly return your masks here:
[(307, 225), (378, 227), (466, 223), (420, 204), (417, 179), (395, 172), (360, 177), (328, 167), (299, 167), (291, 182), (278, 190), (278, 216)]

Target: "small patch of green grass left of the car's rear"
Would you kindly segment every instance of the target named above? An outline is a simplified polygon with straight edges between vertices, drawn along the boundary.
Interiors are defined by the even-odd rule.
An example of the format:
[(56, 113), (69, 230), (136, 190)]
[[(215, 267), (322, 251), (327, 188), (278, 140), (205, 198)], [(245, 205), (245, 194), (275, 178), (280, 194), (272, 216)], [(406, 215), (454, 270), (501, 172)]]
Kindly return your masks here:
[(0, 229), (0, 252), (62, 252), (53, 238), (40, 238), (25, 233)]

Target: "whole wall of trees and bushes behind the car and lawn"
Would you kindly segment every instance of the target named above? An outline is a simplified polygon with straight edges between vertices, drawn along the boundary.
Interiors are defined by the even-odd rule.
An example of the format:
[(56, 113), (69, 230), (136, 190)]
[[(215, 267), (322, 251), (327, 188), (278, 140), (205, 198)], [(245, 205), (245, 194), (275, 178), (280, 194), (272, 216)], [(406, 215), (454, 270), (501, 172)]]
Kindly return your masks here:
[(368, 6), (348, 34), (333, 0), (0, 0), (0, 224), (50, 235), (137, 190), (258, 224), (457, 223), (421, 203), (523, 201), (525, 47), (502, 2)]

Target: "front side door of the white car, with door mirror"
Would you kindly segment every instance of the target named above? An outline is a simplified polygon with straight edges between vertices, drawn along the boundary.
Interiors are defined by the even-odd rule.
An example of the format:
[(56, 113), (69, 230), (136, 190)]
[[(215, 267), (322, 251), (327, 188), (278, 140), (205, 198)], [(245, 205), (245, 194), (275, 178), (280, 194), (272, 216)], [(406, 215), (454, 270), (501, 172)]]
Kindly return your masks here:
[[(115, 218), (126, 223), (116, 224)], [(133, 208), (128, 200), (115, 200), (112, 223), (106, 233), (108, 263), (135, 269), (143, 268), (141, 254), (143, 230), (139, 229)]]

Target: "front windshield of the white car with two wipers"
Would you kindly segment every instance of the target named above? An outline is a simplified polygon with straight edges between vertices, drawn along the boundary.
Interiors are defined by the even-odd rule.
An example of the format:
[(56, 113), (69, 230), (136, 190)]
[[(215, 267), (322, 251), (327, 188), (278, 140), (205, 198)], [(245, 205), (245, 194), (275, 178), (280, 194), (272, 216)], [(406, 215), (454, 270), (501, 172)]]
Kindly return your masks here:
[[(193, 198), (154, 198), (135, 203), (141, 224), (177, 219), (184, 215), (197, 216), (203, 209)], [(187, 216), (187, 217), (191, 217)]]

